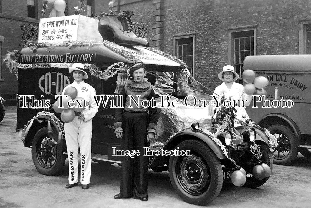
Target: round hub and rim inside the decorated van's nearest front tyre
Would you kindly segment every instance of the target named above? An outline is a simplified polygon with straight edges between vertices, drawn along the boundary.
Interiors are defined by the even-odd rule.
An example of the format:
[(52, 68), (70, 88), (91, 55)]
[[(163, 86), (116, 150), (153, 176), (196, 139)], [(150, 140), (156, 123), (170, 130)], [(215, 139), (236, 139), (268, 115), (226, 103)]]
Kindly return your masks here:
[(204, 193), (211, 182), (211, 173), (202, 158), (191, 155), (180, 157), (178, 162), (176, 171), (180, 186), (194, 196)]

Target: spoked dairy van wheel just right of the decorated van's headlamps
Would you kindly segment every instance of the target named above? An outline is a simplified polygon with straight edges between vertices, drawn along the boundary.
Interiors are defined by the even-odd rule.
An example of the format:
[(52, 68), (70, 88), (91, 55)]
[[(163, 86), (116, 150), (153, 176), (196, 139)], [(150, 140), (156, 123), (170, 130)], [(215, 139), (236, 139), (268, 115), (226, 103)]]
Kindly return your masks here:
[(268, 130), (277, 139), (278, 146), (271, 148), (273, 163), (290, 165), (298, 155), (298, 141), (294, 132), (285, 125), (275, 124)]

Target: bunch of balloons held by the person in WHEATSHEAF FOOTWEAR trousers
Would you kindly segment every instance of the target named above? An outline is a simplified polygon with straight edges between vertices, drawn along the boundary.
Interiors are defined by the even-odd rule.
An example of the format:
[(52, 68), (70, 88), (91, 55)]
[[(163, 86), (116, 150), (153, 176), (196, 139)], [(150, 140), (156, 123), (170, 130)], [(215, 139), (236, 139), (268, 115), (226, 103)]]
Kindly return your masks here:
[[(69, 123), (71, 121), (73, 121), (73, 119), (75, 118), (75, 112), (81, 112), (83, 111), (86, 107), (84, 105), (82, 105), (82, 107), (78, 104), (78, 102), (81, 104), (83, 103), (84, 99), (82, 97), (77, 97), (78, 95), (78, 91), (75, 87), (68, 87), (65, 90), (64, 96), (62, 96), (62, 106), (64, 106), (63, 108), (60, 108), (60, 98), (58, 98), (58, 100), (56, 102), (54, 102), (53, 104), (53, 110), (57, 113), (60, 113), (60, 118), (62, 119), (63, 122), (65, 123)], [(74, 105), (75, 107), (70, 108), (68, 106), (68, 101), (72, 100), (74, 101), (74, 103), (72, 103), (72, 105)], [(78, 106), (78, 107), (76, 107)]]

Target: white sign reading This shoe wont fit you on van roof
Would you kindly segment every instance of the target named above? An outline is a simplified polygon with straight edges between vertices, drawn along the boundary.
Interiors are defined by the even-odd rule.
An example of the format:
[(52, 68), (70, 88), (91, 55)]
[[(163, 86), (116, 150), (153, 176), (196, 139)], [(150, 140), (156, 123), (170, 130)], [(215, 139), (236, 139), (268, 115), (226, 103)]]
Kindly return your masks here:
[(38, 42), (77, 40), (79, 15), (40, 19)]

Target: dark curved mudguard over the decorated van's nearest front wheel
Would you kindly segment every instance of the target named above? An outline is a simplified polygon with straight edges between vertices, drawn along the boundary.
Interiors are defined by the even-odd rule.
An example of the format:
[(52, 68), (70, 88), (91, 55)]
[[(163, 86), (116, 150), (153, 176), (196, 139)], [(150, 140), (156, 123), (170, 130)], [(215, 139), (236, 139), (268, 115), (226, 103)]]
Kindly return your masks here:
[[(172, 149), (174, 149), (174, 147), (176, 147), (177, 144), (179, 144), (182, 141), (188, 140), (188, 139), (196, 139), (196, 140), (200, 140), (200, 141), (204, 142), (205, 144), (207, 144), (212, 149), (212, 151), (216, 154), (216, 156), (219, 159), (228, 158), (227, 151), (225, 149), (223, 150), (221, 148), (221, 146), (218, 145), (216, 143), (216, 141), (214, 141), (214, 139), (217, 139), (217, 138), (211, 138), (210, 135), (207, 135), (206, 133), (202, 132), (201, 130), (192, 130), (191, 128), (180, 131), (177, 134), (173, 135), (168, 141), (165, 142), (162, 149), (163, 150), (172, 150)], [(220, 141), (219, 141), (219, 144), (221, 144)], [(223, 148), (224, 147), (225, 146), (223, 146)], [(152, 167), (164, 166), (165, 163), (167, 163), (167, 161), (169, 160), (169, 157), (170, 156), (155, 156), (151, 161), (151, 168)]]

